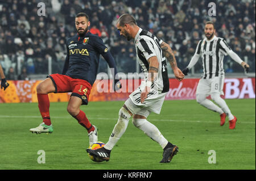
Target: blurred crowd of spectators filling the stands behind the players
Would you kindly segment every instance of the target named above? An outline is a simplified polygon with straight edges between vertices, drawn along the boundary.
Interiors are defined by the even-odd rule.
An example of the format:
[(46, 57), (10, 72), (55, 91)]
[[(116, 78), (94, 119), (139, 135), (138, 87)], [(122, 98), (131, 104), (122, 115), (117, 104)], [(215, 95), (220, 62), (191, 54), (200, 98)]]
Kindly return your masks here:
[[(38, 16), (39, 2), (46, 5), (46, 16)], [(216, 3), (216, 16), (208, 15), (210, 2)], [(180, 69), (188, 65), (198, 41), (204, 38), (204, 23), (212, 20), (217, 36), (224, 37), (255, 72), (255, 0), (0, 0), (0, 63), (6, 78), (48, 74), (49, 60), (52, 73), (61, 73), (67, 55), (65, 40), (76, 35), (79, 12), (89, 15), (90, 32), (109, 47), (119, 72), (141, 71), (133, 40), (123, 39), (115, 28), (116, 20), (125, 13), (171, 45)], [(229, 56), (224, 58), (224, 68), (227, 73), (243, 72)], [(104, 60), (98, 71), (108, 71)], [(194, 71), (202, 71), (201, 61)]]

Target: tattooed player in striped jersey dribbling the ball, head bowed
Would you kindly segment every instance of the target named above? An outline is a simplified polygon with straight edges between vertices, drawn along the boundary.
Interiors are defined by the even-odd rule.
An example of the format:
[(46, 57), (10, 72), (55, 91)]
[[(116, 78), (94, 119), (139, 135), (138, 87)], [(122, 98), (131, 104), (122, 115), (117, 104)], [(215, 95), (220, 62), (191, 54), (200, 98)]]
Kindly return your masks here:
[(184, 74), (177, 68), (171, 47), (150, 32), (138, 27), (133, 16), (123, 14), (117, 20), (116, 27), (120, 35), (125, 36), (127, 40), (134, 39), (145, 81), (130, 94), (129, 99), (119, 110), (117, 124), (106, 145), (100, 149), (86, 151), (94, 157), (109, 161), (110, 151), (126, 131), (129, 119), (133, 116), (132, 122), (135, 127), (141, 129), (163, 148), (163, 159), (160, 163), (168, 163), (179, 149), (164, 138), (158, 128), (147, 121), (147, 117), (151, 112), (160, 113), (164, 98), (170, 89), (166, 59), (170, 62), (174, 75), (179, 81), (184, 78)]

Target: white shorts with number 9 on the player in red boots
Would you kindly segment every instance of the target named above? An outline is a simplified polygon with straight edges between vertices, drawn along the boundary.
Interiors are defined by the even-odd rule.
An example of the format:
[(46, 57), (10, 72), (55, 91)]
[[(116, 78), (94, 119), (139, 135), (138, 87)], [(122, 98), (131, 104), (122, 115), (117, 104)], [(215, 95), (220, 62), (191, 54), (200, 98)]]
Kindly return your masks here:
[(224, 95), (223, 86), (224, 76), (210, 79), (201, 78), (196, 87), (196, 94), (205, 94), (208, 96), (213, 93), (218, 93), (220, 95)]

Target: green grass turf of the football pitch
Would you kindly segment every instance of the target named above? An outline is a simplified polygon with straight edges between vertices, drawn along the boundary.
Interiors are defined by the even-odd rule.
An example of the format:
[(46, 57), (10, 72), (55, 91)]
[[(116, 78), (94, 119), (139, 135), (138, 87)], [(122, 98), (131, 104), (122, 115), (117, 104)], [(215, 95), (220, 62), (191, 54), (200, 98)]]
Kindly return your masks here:
[[(82, 106), (99, 129), (98, 140), (107, 142), (124, 102), (90, 102)], [(32, 134), (42, 119), (37, 103), (0, 104), (0, 169), (255, 169), (255, 99), (226, 100), (237, 116), (230, 130), (228, 118), (220, 127), (220, 116), (195, 100), (169, 100), (160, 115), (148, 120), (179, 153), (171, 163), (159, 163), (162, 148), (132, 123), (115, 145), (109, 162), (89, 159), (87, 132), (66, 111), (67, 103), (51, 103), (52, 134)], [(131, 120), (130, 120), (131, 122)], [(37, 162), (39, 150), (46, 163)], [(216, 162), (208, 163), (208, 151), (216, 151)]]

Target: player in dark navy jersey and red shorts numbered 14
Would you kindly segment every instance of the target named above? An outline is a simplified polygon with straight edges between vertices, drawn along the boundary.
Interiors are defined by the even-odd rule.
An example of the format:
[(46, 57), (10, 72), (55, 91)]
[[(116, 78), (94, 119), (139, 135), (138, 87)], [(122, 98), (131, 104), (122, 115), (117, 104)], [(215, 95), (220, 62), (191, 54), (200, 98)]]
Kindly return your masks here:
[[(67, 40), (67, 58), (62, 74), (51, 74), (37, 87), (38, 107), (43, 117), (39, 127), (31, 128), (35, 133), (51, 133), (53, 127), (49, 116), (50, 92), (72, 92), (67, 111), (84, 127), (89, 136), (89, 144), (98, 140), (97, 128), (87, 119), (80, 106), (88, 104), (90, 90), (96, 79), (100, 54), (108, 62), (110, 68), (117, 74), (112, 54), (100, 37), (89, 32), (89, 17), (83, 12), (76, 15), (75, 25), (77, 35)], [(119, 80), (115, 79), (115, 82)], [(119, 83), (116, 85), (121, 86)], [(114, 88), (115, 89), (115, 88)]]

